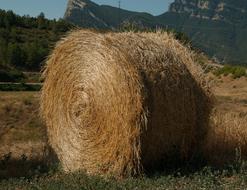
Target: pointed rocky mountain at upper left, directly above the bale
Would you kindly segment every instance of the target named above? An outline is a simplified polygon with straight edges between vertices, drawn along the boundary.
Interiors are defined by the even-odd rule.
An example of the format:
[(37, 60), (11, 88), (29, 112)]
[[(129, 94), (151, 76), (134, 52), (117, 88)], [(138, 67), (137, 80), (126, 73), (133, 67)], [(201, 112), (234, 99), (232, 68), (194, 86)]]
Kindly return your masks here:
[(155, 26), (148, 13), (127, 11), (107, 5), (97, 5), (90, 0), (69, 0), (64, 19), (81, 27), (117, 29), (126, 22)]

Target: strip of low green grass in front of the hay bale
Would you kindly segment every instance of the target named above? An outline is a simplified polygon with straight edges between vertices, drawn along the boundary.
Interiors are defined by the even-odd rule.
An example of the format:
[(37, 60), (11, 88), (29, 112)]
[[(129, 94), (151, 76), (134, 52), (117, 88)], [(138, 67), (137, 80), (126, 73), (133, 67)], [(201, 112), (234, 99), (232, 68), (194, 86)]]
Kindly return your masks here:
[(225, 169), (203, 167), (200, 170), (177, 169), (174, 172), (151, 174), (139, 178), (114, 179), (88, 176), (83, 172), (64, 174), (55, 170), (33, 177), (0, 181), (0, 189), (245, 189), (247, 168), (245, 164)]

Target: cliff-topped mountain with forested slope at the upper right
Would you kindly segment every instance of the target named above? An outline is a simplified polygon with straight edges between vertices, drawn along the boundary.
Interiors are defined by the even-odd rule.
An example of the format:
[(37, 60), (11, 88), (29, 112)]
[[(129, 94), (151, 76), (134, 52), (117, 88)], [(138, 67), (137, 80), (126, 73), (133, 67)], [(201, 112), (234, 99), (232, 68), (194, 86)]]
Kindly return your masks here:
[(245, 0), (176, 0), (162, 23), (186, 33), (193, 45), (221, 62), (246, 64)]

